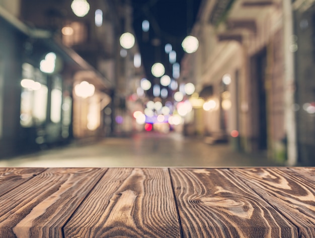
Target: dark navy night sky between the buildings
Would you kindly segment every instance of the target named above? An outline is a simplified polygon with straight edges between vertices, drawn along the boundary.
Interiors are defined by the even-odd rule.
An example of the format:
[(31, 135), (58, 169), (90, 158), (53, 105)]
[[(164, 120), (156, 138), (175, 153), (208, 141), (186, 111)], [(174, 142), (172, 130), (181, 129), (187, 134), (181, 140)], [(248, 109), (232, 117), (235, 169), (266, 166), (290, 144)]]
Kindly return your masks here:
[[(139, 44), (146, 76), (153, 80), (151, 65), (162, 62), (166, 73), (172, 75), (172, 65), (165, 53), (165, 44), (170, 43), (177, 53), (180, 63), (184, 51), (181, 47), (183, 39), (190, 33), (198, 14), (201, 0), (132, 0), (133, 27)], [(150, 30), (142, 32), (142, 21), (148, 20)], [(155, 42), (155, 44), (154, 44)], [(160, 44), (157, 44), (160, 42)]]

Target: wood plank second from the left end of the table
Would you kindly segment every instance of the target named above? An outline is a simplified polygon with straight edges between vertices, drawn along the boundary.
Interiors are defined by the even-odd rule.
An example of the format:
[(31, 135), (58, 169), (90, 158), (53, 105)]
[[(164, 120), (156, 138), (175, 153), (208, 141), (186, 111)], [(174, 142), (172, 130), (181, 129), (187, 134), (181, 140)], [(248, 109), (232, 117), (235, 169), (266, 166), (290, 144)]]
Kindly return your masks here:
[(106, 169), (48, 169), (0, 197), (0, 237), (62, 237), (61, 228)]

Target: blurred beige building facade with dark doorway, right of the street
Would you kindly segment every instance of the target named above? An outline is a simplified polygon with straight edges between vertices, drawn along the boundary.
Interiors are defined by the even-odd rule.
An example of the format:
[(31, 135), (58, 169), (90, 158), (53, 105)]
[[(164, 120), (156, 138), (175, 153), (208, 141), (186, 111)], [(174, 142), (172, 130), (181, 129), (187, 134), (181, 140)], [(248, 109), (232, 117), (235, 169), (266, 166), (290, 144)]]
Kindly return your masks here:
[(185, 56), (183, 74), (213, 105), (198, 109), (196, 128), (297, 164), (290, 1), (204, 1), (192, 34), (199, 50)]

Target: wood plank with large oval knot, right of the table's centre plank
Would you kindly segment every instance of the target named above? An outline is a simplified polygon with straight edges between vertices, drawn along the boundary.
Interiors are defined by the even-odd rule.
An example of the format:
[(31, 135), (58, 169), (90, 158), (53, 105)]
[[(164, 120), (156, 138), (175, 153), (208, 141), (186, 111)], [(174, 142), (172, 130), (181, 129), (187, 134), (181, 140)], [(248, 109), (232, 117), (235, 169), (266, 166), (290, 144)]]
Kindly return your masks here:
[(170, 169), (183, 237), (297, 237), (297, 229), (227, 169)]

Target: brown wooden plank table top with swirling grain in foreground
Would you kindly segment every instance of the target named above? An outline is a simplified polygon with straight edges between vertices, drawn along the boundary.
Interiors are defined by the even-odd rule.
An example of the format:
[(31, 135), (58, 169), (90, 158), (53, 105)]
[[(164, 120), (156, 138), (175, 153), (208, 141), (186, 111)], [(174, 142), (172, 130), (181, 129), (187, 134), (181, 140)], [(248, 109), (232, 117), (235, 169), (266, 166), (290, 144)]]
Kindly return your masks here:
[(0, 168), (0, 237), (315, 237), (315, 168)]

